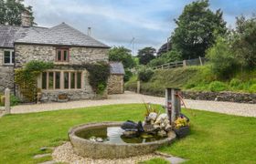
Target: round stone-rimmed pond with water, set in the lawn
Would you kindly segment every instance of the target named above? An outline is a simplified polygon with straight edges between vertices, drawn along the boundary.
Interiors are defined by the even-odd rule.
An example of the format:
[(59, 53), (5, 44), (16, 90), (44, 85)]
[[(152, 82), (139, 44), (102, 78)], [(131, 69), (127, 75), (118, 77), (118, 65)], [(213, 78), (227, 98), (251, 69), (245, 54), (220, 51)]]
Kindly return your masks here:
[[(167, 138), (123, 138), (123, 122), (101, 122), (84, 124), (69, 130), (69, 139), (74, 151), (93, 159), (119, 159), (151, 153), (171, 143), (176, 134), (168, 133)], [(91, 140), (102, 138), (102, 142)]]

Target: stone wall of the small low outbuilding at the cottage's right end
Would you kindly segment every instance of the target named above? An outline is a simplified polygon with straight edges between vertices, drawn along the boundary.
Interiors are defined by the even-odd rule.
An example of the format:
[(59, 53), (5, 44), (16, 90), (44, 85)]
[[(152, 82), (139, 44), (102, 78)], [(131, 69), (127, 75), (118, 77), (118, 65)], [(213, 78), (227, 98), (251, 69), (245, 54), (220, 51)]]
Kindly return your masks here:
[(112, 74), (109, 77), (108, 94), (123, 94), (123, 75)]

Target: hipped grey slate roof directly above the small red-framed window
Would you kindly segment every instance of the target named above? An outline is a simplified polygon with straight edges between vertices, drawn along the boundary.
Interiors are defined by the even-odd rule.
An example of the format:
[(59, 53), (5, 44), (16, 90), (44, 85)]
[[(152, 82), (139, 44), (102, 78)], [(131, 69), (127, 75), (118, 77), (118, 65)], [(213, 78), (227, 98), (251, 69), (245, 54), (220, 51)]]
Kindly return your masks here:
[(87, 36), (65, 23), (53, 26), (40, 33), (28, 33), (27, 36), (17, 39), (16, 43), (58, 46), (96, 46), (109, 48), (109, 46), (102, 44), (91, 36)]

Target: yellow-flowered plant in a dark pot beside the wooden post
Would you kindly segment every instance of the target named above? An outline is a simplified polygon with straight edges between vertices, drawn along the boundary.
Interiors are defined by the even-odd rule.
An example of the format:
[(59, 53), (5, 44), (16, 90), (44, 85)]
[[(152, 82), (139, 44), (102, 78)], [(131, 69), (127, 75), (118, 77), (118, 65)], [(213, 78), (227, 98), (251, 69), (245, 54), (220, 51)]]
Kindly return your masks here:
[(189, 120), (186, 117), (177, 118), (174, 130), (178, 138), (186, 137), (189, 133)]

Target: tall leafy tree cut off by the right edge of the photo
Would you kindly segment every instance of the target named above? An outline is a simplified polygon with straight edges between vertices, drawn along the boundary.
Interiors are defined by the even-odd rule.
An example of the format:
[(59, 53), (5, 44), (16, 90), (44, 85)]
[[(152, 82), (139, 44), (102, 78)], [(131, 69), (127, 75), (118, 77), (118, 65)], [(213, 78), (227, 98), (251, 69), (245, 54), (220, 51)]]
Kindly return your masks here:
[(234, 42), (232, 49), (240, 65), (247, 68), (256, 67), (256, 16), (250, 19), (244, 16), (237, 17), (237, 26), (234, 31)]

